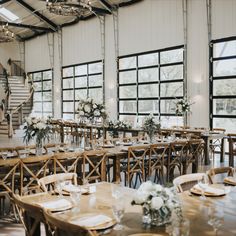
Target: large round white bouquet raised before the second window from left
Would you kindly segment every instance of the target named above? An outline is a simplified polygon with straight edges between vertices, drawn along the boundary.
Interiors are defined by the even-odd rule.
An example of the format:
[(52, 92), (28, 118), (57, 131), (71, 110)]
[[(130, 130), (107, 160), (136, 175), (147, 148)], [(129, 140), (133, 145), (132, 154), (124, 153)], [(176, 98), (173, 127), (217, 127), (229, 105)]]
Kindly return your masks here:
[(92, 98), (81, 99), (77, 111), (79, 117), (86, 117), (90, 121), (93, 121), (94, 118), (103, 118), (104, 120), (107, 118), (105, 105), (94, 102)]

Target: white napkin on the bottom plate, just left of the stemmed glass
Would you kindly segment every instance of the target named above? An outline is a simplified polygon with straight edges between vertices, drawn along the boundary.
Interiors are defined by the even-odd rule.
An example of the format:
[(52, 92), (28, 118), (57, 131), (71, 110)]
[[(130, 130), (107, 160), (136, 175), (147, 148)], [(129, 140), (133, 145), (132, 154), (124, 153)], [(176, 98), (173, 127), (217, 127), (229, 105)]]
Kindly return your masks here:
[(93, 216), (86, 216), (76, 220), (73, 220), (73, 224), (77, 224), (83, 227), (96, 227), (105, 223), (109, 223), (112, 221), (112, 218), (106, 215), (93, 215)]

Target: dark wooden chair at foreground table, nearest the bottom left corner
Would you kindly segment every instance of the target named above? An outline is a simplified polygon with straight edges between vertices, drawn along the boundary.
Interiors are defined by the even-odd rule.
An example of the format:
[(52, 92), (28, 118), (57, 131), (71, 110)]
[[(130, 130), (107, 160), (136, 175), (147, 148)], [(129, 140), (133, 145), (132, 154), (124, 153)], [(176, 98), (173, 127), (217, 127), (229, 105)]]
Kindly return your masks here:
[(25, 229), (26, 236), (40, 236), (40, 223), (45, 227), (47, 236), (52, 236), (46, 224), (43, 209), (40, 206), (29, 204), (23, 201), (19, 195), (12, 194), (11, 200)]

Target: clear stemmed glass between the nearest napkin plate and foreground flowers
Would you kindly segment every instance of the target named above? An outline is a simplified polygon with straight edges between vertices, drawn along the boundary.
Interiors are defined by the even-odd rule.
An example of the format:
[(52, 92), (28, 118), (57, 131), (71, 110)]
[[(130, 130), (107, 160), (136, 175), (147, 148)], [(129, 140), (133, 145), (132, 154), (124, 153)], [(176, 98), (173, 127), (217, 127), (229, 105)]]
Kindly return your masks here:
[(114, 204), (112, 205), (112, 212), (117, 221), (114, 230), (122, 230), (123, 225), (121, 224), (121, 219), (123, 218), (125, 213), (125, 204), (123, 199), (119, 198), (114, 202)]

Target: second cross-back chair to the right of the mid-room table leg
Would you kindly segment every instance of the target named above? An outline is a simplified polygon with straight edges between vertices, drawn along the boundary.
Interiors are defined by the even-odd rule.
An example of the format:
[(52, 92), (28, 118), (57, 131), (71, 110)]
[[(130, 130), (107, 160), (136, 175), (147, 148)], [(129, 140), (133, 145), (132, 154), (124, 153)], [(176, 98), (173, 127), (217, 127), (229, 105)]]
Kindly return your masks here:
[(152, 177), (154, 173), (154, 182), (164, 183), (164, 166), (168, 161), (169, 144), (157, 143), (150, 145), (150, 158), (148, 175)]

